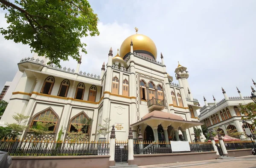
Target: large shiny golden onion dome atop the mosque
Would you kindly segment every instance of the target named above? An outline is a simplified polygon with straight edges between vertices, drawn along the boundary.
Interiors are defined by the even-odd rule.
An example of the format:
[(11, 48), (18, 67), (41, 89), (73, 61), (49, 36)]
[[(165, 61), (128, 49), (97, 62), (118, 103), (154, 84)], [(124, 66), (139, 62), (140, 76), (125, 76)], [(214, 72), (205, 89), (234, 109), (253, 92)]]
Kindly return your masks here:
[[(135, 34), (131, 35), (123, 41), (120, 47), (120, 57), (124, 58), (127, 53), (131, 52), (131, 40), (133, 42), (134, 52), (140, 53), (140, 51), (149, 52), (151, 56), (154, 56), (154, 59), (157, 59), (157, 47), (154, 41), (151, 40), (148, 36)], [(147, 53), (145, 53), (147, 54)]]

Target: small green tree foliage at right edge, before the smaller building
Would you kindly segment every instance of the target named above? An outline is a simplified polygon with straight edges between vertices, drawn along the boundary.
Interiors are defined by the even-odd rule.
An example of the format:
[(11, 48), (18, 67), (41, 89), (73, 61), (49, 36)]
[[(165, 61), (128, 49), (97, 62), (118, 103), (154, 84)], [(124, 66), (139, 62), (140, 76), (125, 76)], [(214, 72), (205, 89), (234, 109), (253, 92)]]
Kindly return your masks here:
[(246, 105), (239, 104), (241, 107), (241, 113), (245, 114), (247, 116), (242, 116), (242, 119), (248, 120), (252, 119), (253, 120), (253, 127), (256, 127), (256, 103), (251, 102)]

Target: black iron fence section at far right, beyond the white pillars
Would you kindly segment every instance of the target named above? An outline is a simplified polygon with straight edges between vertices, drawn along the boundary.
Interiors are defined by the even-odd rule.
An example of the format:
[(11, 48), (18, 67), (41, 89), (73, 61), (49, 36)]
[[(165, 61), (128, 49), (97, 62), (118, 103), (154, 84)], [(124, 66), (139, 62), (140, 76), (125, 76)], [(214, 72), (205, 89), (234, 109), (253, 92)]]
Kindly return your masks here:
[(233, 141), (233, 142), (224, 142), (227, 150), (234, 149), (250, 149), (253, 148), (253, 144), (256, 146), (253, 141)]

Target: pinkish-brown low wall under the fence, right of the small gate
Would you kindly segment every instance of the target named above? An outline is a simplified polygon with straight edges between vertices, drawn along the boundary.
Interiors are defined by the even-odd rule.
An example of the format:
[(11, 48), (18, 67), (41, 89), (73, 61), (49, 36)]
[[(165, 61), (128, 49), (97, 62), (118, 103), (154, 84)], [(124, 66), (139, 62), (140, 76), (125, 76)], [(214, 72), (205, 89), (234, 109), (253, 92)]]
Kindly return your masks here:
[(215, 151), (175, 154), (135, 154), (133, 165), (157, 165), (217, 159)]

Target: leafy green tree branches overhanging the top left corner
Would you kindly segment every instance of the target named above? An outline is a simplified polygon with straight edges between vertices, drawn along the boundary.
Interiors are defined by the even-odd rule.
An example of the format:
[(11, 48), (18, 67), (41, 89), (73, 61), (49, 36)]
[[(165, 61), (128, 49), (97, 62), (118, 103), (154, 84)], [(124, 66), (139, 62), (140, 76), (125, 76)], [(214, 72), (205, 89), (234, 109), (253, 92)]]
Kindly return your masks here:
[(28, 44), (56, 65), (68, 57), (79, 61), (79, 51), (87, 53), (80, 38), (99, 35), (99, 19), (87, 0), (0, 0), (0, 7), (8, 10), (9, 26), (0, 28), (4, 38)]

